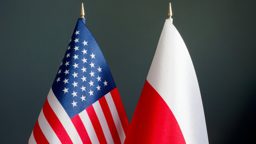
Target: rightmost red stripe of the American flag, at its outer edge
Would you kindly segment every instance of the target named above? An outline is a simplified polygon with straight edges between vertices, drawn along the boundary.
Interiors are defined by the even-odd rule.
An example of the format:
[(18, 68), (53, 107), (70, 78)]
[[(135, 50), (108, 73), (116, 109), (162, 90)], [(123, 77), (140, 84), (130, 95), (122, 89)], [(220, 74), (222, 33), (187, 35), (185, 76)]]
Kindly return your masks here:
[(119, 95), (117, 88), (115, 88), (114, 90), (111, 90), (110, 94), (113, 98), (115, 107), (117, 108), (118, 116), (119, 116), (119, 118), (121, 120), (121, 124), (123, 126), (123, 130), (125, 131), (125, 134), (126, 134), (128, 131), (128, 128), (129, 128), (129, 121), (127, 119), (127, 115), (125, 113), (125, 108), (123, 107), (123, 103), (122, 103), (122, 100), (121, 100), (121, 97)]

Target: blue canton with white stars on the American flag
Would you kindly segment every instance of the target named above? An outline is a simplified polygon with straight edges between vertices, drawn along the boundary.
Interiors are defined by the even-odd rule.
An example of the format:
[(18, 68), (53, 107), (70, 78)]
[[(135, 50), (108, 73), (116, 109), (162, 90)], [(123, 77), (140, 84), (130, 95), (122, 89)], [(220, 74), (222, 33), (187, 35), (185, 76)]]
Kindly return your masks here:
[(73, 118), (114, 88), (107, 62), (85, 19), (79, 18), (52, 91)]

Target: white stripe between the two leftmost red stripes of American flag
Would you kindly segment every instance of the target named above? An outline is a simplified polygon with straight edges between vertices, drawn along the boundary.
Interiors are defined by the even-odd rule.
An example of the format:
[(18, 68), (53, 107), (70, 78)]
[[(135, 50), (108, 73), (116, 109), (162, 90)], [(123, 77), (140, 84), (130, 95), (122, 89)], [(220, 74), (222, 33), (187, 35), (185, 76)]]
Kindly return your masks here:
[(40, 126), (40, 129), (42, 130), (42, 133), (44, 134), (45, 138), (50, 144), (61, 144), (60, 140), (58, 139), (55, 132), (52, 130), (52, 127), (47, 122), (44, 113), (40, 112), (38, 117), (38, 124)]

